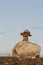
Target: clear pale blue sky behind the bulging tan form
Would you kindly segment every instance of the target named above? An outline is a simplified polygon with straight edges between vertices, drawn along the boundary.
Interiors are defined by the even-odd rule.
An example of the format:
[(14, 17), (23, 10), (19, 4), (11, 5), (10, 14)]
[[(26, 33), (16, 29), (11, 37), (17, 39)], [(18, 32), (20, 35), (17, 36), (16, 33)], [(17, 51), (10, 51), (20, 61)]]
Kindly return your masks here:
[(43, 0), (0, 0), (0, 53), (12, 51), (14, 45), (22, 40), (20, 32), (31, 31), (31, 42), (41, 46), (43, 55)]

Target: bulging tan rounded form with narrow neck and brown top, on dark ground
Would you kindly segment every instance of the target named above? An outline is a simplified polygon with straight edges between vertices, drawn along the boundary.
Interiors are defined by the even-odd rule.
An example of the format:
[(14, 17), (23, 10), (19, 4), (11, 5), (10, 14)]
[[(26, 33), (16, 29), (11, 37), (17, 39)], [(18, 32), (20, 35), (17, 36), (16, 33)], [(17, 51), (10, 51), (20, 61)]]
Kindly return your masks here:
[(40, 46), (29, 41), (28, 37), (32, 36), (30, 31), (25, 30), (21, 33), (23, 40), (18, 42), (12, 50), (12, 56), (17, 58), (35, 58), (40, 55)]

